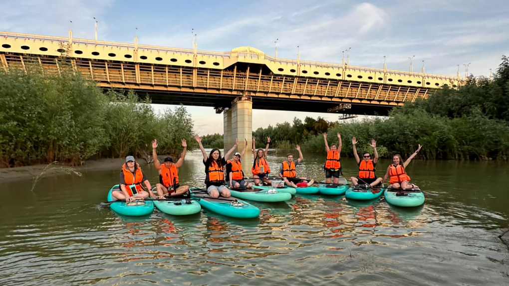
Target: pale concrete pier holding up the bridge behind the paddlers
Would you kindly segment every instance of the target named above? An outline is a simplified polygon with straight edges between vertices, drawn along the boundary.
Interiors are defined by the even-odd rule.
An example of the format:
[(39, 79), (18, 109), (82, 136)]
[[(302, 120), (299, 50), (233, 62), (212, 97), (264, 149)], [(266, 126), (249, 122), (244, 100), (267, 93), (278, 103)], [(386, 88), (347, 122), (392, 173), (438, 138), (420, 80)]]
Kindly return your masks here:
[[(252, 144), (252, 100), (248, 96), (237, 97), (232, 102), (232, 108), (224, 111), (223, 123), (224, 123), (224, 152), (228, 152), (230, 148), (235, 144), (235, 139), (239, 139), (239, 145), (235, 152), (242, 152), (245, 147), (245, 141), (247, 140), (247, 147), (245, 157), (251, 157), (251, 144)], [(233, 154), (232, 154), (233, 156)], [(244, 158), (242, 158), (244, 159)], [(249, 166), (251, 159), (244, 161), (244, 165)], [(244, 168), (243, 168), (244, 169)], [(245, 173), (245, 171), (244, 171)], [(247, 174), (246, 174), (247, 175)]]

